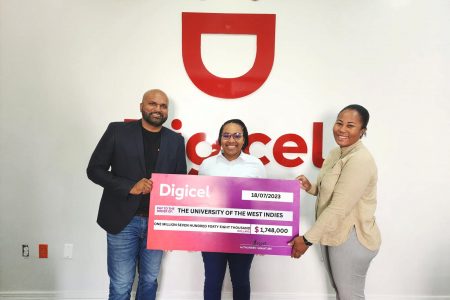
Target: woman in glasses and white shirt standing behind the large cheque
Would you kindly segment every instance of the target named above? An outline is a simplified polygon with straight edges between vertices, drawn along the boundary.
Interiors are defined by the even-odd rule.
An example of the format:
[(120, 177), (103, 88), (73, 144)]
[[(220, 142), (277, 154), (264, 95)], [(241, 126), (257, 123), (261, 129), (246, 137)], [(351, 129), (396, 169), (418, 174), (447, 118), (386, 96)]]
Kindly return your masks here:
[[(261, 161), (243, 152), (248, 145), (248, 131), (239, 119), (226, 121), (219, 130), (221, 151), (205, 159), (199, 175), (230, 177), (266, 177)], [(233, 286), (234, 300), (250, 299), (250, 268), (253, 254), (202, 252), (205, 267), (205, 300), (220, 300), (227, 264)]]

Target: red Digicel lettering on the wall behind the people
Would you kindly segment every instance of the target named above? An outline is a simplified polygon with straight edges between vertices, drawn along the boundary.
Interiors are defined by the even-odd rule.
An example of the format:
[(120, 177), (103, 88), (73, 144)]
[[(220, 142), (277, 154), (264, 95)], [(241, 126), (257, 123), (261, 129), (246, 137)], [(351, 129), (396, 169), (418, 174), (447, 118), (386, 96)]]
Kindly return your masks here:
[[(183, 123), (179, 119), (174, 119), (171, 123), (172, 129), (178, 131), (181, 129)], [(320, 168), (322, 166), (322, 163), (324, 159), (322, 158), (322, 141), (323, 141), (323, 123), (322, 122), (314, 122), (313, 123), (313, 140), (312, 140), (312, 163), (317, 168)], [(186, 138), (186, 156), (187, 158), (194, 164), (200, 165), (204, 159), (216, 155), (220, 151), (220, 145), (214, 143), (211, 145), (212, 151), (209, 155), (203, 157), (200, 156), (197, 153), (197, 146), (200, 143), (207, 142), (206, 141), (206, 133), (204, 132), (198, 132), (193, 134), (191, 137)], [(249, 133), (248, 136), (248, 146), (246, 149), (244, 149), (245, 153), (249, 153), (249, 149), (253, 143), (262, 143), (264, 145), (269, 144), (272, 141), (272, 138), (268, 136), (265, 133), (256, 132), (256, 133)], [(289, 143), (290, 145), (294, 144), (293, 146), (286, 145)], [(281, 136), (279, 136), (274, 144), (272, 154), (274, 160), (281, 166), (287, 167), (287, 168), (294, 168), (301, 165), (304, 161), (300, 158), (300, 156), (297, 156), (295, 158), (287, 158), (285, 154), (306, 154), (308, 152), (308, 145), (306, 144), (305, 140), (295, 133), (286, 133)], [(268, 149), (270, 151), (270, 149)], [(266, 152), (267, 153), (267, 152)], [(264, 165), (267, 165), (270, 163), (270, 159), (263, 155), (261, 157), (258, 157), (261, 162)], [(191, 169), (189, 170), (189, 174), (198, 174), (198, 170)]]

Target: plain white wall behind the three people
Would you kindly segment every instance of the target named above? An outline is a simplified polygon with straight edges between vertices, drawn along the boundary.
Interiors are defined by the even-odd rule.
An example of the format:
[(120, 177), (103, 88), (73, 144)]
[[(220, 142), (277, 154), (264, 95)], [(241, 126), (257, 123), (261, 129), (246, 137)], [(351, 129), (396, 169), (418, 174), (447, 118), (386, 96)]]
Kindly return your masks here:
[[(265, 84), (239, 100), (199, 91), (181, 57), (185, 11), (276, 14)], [(248, 41), (231, 44), (207, 44), (208, 68), (232, 74), (251, 65)], [(0, 0), (0, 298), (106, 297), (105, 234), (95, 223), (101, 188), (85, 168), (108, 122), (138, 118), (142, 93), (157, 87), (169, 94), (170, 119), (183, 121), (186, 138), (204, 131), (213, 141), (231, 117), (273, 141), (302, 136), (305, 163), (272, 162), (273, 178), (314, 177), (312, 123), (324, 122), (327, 153), (338, 110), (365, 105), (383, 235), (368, 298), (450, 299), (449, 79), (447, 0)], [(272, 158), (273, 141), (251, 150)], [(313, 202), (303, 199), (302, 228)], [(39, 243), (49, 244), (48, 259), (37, 258)], [(74, 244), (71, 260), (63, 259), (65, 243)], [(202, 272), (200, 254), (168, 253), (159, 298), (200, 298)], [(298, 261), (256, 257), (252, 288), (255, 299), (332, 292), (316, 247)], [(225, 290), (229, 297), (228, 281)]]

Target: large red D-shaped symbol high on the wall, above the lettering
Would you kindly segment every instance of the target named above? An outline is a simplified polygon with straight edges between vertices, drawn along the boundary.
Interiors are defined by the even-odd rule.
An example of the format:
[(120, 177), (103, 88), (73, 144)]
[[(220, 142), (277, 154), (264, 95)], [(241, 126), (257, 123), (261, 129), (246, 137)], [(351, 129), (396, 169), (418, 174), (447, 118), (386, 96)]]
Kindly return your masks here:
[[(201, 57), (202, 34), (256, 35), (256, 57), (252, 68), (235, 78), (223, 78), (210, 73)], [(272, 70), (275, 15), (184, 12), (182, 48), (186, 72), (201, 91), (225, 99), (247, 96), (261, 87)]]

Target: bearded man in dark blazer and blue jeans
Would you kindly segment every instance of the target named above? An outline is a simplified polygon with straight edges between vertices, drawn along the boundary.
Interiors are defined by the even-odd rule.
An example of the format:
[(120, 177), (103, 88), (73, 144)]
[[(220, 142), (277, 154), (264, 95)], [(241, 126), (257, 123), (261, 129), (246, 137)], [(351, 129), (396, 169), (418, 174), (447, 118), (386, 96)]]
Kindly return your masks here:
[(168, 105), (163, 91), (147, 91), (142, 119), (110, 123), (89, 161), (89, 179), (103, 187), (97, 222), (107, 232), (109, 299), (130, 299), (137, 264), (136, 299), (156, 297), (162, 251), (146, 249), (151, 174), (186, 174), (184, 138), (162, 126)]

